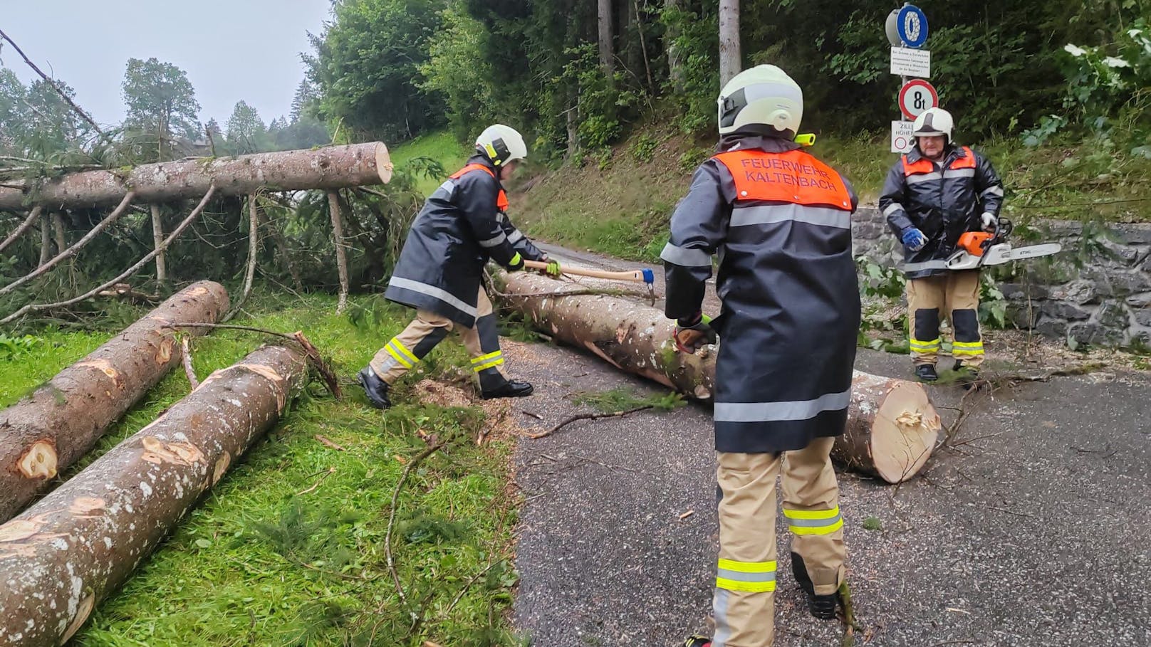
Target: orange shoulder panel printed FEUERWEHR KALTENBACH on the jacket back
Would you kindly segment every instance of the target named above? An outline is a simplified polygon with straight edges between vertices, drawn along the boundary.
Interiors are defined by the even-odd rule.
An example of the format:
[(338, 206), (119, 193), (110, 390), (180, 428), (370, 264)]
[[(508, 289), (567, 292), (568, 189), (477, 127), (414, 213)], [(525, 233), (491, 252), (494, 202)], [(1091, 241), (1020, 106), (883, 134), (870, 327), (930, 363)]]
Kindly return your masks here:
[(715, 155), (735, 181), (735, 201), (771, 200), (851, 211), (852, 196), (834, 169), (800, 150), (730, 151)]

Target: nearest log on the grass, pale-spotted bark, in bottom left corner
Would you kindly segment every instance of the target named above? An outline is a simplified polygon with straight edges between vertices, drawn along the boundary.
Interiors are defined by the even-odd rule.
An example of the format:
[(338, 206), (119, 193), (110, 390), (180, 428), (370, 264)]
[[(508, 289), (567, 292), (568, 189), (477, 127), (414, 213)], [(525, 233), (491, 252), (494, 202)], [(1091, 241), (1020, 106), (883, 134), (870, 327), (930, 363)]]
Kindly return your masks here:
[(252, 442), (307, 378), (265, 347), (0, 525), (0, 645), (62, 645)]

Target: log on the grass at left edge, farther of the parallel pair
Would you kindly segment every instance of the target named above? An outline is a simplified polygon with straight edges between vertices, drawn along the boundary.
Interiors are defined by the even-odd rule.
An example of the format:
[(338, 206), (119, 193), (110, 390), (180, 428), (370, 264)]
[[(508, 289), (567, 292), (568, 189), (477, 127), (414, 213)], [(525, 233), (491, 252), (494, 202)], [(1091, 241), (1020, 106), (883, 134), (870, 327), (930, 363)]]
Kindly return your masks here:
[[(56, 472), (86, 454), (109, 425), (180, 365), (180, 344), (168, 325), (219, 321), (227, 310), (223, 286), (195, 283), (0, 411), (0, 522), (23, 509)], [(200, 335), (204, 329), (183, 332)]]

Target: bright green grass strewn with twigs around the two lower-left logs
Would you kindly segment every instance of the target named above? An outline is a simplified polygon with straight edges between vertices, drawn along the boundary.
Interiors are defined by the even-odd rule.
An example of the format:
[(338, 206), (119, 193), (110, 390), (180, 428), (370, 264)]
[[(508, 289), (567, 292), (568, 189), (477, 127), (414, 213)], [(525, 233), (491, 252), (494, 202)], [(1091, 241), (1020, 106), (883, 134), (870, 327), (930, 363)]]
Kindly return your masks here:
[[(74, 644), (519, 645), (505, 619), (517, 579), (511, 566), (517, 502), (508, 489), (511, 443), (497, 439), (477, 447), (485, 425), (481, 409), (420, 404), (412, 393), (417, 380), (464, 366), (463, 350), (443, 344), (397, 389), (397, 399), (411, 404), (380, 413), (348, 378), (406, 324), (407, 311), (367, 297), (353, 299), (344, 315), (335, 314), (335, 300), (327, 297), (264, 298), (246, 310), (259, 314), (237, 324), (304, 330), (345, 378), (345, 399), (336, 402), (312, 385), (122, 589), (98, 607)], [(41, 341), (0, 367), (5, 401), (109, 333), (37, 334)], [(195, 340), (197, 374), (203, 379), (233, 364), (261, 341), (261, 335), (230, 330)], [(177, 368), (85, 463), (188, 390)], [(402, 603), (386, 564), (384, 535), (396, 484), (427, 448), (421, 434), (447, 446), (411, 470), (398, 495), (392, 551), (407, 600)]]

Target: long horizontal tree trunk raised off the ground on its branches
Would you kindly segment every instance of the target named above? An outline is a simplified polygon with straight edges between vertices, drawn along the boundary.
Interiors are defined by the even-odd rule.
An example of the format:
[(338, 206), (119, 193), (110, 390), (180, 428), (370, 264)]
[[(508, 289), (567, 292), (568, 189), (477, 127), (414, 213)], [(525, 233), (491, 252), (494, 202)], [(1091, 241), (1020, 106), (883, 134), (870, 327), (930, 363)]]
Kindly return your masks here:
[[(119, 203), (129, 190), (139, 201), (199, 198), (215, 183), (226, 196), (258, 189), (296, 191), (343, 189), (391, 180), (388, 147), (379, 142), (281, 151), (231, 158), (191, 158), (138, 166), (128, 173), (87, 170), (44, 181), (33, 201), (46, 208), (91, 207)], [(0, 187), (0, 208), (20, 208), (32, 187)]]

